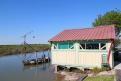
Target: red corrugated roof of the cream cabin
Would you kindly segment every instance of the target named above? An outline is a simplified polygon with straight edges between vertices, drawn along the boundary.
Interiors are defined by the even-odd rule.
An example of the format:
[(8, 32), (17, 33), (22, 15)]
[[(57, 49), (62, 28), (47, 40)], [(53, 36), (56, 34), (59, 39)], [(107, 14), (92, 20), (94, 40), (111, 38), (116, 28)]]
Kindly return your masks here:
[(70, 40), (100, 40), (115, 39), (114, 25), (98, 26), (94, 28), (64, 30), (51, 41), (70, 41)]

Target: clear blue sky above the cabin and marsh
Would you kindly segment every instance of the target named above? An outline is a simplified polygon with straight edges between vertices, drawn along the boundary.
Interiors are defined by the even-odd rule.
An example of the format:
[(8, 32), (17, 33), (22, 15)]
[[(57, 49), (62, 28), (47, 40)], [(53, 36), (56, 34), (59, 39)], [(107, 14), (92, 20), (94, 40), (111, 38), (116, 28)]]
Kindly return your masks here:
[(0, 45), (21, 44), (25, 34), (28, 43), (48, 43), (65, 29), (92, 27), (116, 8), (121, 0), (0, 0)]

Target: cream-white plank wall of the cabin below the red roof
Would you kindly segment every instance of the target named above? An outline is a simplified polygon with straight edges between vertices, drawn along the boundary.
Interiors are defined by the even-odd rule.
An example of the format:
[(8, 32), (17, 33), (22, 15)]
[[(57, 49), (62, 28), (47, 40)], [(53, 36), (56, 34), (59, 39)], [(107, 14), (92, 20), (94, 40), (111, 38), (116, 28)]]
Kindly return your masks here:
[[(102, 54), (108, 54), (110, 44), (106, 43), (107, 50), (80, 50), (79, 43), (74, 44), (75, 49), (53, 49), (52, 45), (52, 64), (82, 68), (101, 68)], [(113, 67), (112, 54), (110, 57), (110, 66)]]

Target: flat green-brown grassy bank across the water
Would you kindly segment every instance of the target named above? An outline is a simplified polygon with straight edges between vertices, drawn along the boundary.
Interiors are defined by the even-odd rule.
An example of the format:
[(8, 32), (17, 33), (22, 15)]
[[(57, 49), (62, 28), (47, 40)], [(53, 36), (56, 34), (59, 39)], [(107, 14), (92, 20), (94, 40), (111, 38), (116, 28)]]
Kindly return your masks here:
[(30, 44), (30, 45), (0, 45), (0, 55), (12, 55), (19, 53), (31, 53), (50, 49), (48, 44)]

